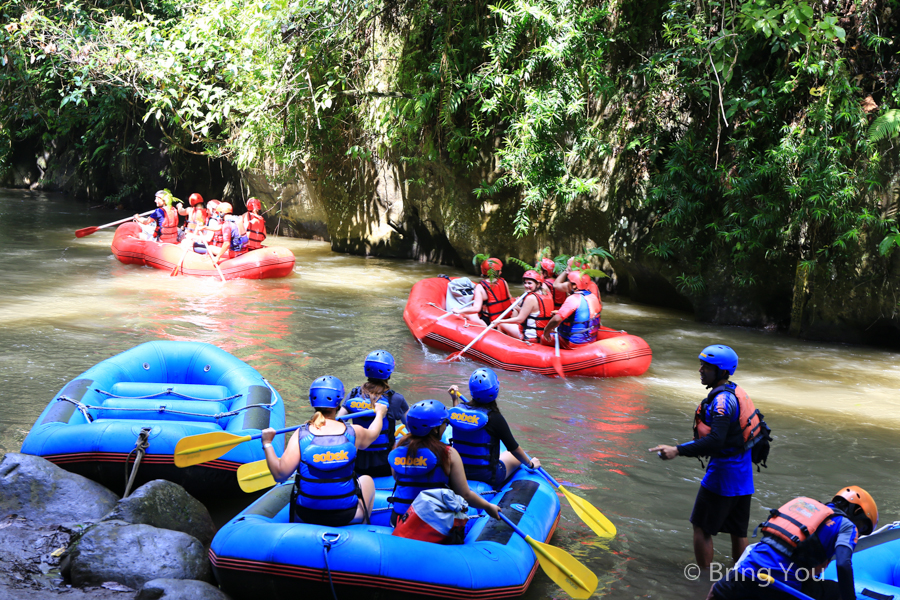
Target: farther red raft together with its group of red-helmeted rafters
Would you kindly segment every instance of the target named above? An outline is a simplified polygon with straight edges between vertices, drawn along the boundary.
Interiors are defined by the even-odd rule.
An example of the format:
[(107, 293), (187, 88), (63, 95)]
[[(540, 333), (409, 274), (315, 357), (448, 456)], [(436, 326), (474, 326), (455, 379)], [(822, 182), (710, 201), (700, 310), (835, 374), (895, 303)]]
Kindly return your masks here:
[[(116, 229), (112, 252), (119, 261), (222, 281), (285, 277), (294, 270), (290, 250), (262, 245), (266, 225), (257, 198), (247, 201), (240, 217), (230, 203), (204, 202), (196, 193), (188, 208), (168, 190), (156, 192), (155, 201), (156, 210)], [(179, 217), (185, 217), (184, 227)]]

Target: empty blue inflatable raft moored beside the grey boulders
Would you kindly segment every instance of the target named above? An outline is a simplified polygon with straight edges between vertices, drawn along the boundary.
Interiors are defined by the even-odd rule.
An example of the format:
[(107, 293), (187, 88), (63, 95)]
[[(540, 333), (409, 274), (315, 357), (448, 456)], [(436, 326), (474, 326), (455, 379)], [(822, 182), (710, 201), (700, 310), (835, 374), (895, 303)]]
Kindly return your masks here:
[[(284, 419), (278, 392), (224, 350), (197, 342), (148, 342), (69, 382), (41, 413), (22, 452), (121, 494), (136, 444), (146, 443), (132, 489), (166, 479), (200, 499), (237, 495), (238, 467), (265, 458), (259, 442), (185, 469), (173, 462), (175, 444), (199, 433), (282, 428)], [(276, 443), (283, 445), (280, 438)]]

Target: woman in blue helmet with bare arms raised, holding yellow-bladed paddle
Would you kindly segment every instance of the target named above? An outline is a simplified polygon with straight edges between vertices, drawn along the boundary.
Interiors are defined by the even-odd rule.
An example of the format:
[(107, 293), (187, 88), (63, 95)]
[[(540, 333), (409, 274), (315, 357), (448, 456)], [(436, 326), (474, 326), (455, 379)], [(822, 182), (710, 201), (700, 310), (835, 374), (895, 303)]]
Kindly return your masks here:
[[(326, 375), (313, 381), (309, 403), (316, 409), (306, 425), (291, 435), (279, 457), (272, 447), (275, 430), (262, 432), (266, 463), (276, 481), (285, 481), (294, 473), (291, 494), (291, 521), (340, 527), (368, 522), (375, 498), (371, 477), (357, 479), (354, 464), (358, 450), (364, 450), (381, 434), (376, 418), (368, 429), (337, 421), (338, 407), (344, 399), (344, 384)], [(375, 405), (377, 417), (387, 412), (384, 404)]]

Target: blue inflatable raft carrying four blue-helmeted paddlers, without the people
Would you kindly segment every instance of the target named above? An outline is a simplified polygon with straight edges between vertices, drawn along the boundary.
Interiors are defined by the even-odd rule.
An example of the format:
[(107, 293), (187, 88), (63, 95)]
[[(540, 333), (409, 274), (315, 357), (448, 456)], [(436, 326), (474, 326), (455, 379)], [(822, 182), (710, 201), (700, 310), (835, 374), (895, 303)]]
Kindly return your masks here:
[[(290, 523), (293, 480), (275, 486), (229, 521), (209, 550), (216, 579), (235, 600), (298, 595), (344, 600), (413, 595), (481, 600), (522, 595), (538, 568), (534, 551), (502, 521), (474, 509), (465, 543), (443, 546), (392, 536), (390, 477), (375, 479), (372, 524), (324, 527)], [(556, 491), (537, 473), (519, 469), (504, 487), (472, 489), (538, 541), (549, 542), (559, 521)], [(513, 508), (513, 505), (516, 505)]]

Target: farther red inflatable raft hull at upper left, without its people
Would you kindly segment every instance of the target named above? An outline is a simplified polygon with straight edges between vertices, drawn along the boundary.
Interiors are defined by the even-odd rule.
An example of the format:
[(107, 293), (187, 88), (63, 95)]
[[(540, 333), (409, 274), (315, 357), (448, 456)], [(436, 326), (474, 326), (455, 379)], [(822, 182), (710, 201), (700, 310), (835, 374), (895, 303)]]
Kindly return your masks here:
[[(140, 233), (141, 228), (136, 223), (120, 225), (113, 237), (113, 255), (125, 264), (147, 265), (169, 272), (184, 256), (182, 269), (185, 275), (219, 276), (206, 254), (192, 251), (185, 256), (186, 246), (142, 240)], [(263, 247), (223, 259), (219, 268), (225, 279), (286, 277), (294, 270), (294, 253), (287, 248)]]

